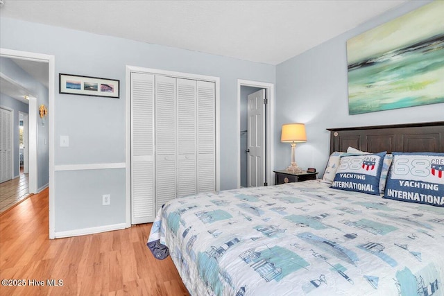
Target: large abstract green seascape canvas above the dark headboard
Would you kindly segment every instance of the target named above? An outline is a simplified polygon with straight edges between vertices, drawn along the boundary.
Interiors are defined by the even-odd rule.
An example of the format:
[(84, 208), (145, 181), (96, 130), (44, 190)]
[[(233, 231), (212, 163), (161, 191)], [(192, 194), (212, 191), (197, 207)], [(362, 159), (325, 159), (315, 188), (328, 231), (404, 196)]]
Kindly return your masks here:
[(444, 103), (444, 1), (347, 41), (348, 110)]

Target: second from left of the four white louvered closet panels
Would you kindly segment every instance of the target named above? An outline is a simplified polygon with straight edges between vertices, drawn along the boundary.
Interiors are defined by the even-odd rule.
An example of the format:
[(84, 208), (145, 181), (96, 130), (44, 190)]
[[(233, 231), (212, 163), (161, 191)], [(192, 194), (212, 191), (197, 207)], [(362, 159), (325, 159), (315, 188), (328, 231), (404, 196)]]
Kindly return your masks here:
[(156, 211), (176, 198), (176, 78), (155, 77)]

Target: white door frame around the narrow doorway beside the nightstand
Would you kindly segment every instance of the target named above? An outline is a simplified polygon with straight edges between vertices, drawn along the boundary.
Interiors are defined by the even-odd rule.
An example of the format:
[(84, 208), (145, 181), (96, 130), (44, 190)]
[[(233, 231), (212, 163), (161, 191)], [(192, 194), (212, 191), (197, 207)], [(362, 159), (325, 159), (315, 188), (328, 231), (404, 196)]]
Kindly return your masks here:
[[(266, 168), (264, 168), (264, 177), (266, 176), (267, 184), (273, 185), (275, 180), (273, 178), (274, 168), (274, 125), (275, 125), (275, 85), (269, 82), (260, 82), (253, 80), (237, 80), (237, 188), (241, 188), (241, 87), (258, 87), (265, 89), (265, 96), (267, 99), (266, 109), (266, 128), (264, 133), (267, 134), (265, 149), (266, 149)], [(264, 123), (265, 124), (265, 123)]]

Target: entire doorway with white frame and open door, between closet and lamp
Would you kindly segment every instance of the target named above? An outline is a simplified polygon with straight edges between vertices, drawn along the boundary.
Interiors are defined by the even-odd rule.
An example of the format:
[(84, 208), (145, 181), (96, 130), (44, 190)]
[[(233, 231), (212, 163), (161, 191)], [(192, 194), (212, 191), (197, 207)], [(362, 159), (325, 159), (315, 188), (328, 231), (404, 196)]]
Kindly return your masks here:
[(273, 184), (274, 85), (238, 80), (238, 106), (237, 186)]

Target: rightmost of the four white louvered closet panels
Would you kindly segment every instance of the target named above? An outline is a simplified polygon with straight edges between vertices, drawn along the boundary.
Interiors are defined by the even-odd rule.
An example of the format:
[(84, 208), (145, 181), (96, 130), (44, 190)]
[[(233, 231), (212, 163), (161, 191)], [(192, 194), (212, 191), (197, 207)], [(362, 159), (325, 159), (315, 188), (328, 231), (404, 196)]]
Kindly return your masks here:
[(198, 192), (216, 190), (216, 128), (214, 82), (197, 82)]

